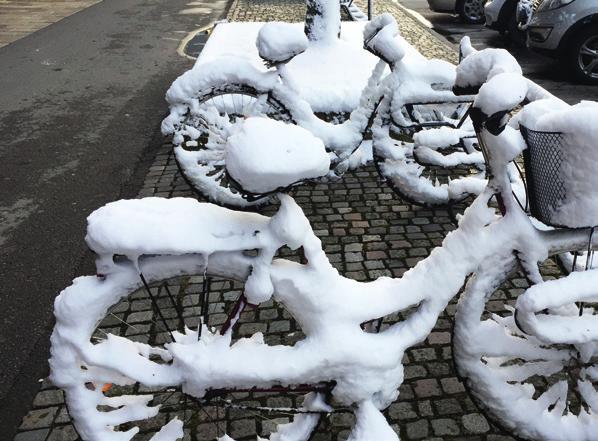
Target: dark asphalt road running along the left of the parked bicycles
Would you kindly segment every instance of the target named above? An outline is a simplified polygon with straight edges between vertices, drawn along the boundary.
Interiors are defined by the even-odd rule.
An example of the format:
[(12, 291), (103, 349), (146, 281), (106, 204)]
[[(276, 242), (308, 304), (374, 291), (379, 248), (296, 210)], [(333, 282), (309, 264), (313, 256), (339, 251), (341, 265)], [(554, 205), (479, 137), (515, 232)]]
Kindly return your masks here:
[(86, 216), (135, 195), (177, 46), (225, 4), (104, 0), (0, 48), (0, 438), (47, 375), (54, 298), (93, 272)]

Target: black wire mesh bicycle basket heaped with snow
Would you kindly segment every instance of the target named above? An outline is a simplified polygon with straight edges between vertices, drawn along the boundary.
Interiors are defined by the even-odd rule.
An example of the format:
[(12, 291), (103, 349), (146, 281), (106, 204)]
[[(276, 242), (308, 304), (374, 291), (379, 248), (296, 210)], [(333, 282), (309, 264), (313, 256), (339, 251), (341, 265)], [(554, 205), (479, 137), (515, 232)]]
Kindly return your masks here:
[[(553, 227), (591, 227), (569, 207), (583, 206), (585, 195), (574, 191), (574, 182), (565, 179), (573, 153), (569, 137), (561, 132), (547, 132), (520, 126), (527, 144), (523, 152), (529, 206), (532, 216)], [(580, 178), (581, 179), (581, 178)], [(590, 202), (591, 203), (591, 202)], [(581, 224), (580, 224), (581, 222)]]

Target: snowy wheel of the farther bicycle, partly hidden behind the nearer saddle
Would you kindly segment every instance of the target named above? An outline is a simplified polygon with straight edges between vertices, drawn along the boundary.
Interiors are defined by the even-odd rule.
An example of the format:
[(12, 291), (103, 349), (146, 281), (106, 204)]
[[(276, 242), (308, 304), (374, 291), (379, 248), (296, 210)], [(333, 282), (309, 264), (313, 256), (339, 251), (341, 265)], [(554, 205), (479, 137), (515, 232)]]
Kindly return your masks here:
[(199, 95), (173, 136), (177, 165), (189, 185), (210, 201), (248, 207), (226, 173), (226, 141), (235, 125), (250, 116), (292, 122), (291, 113), (267, 92), (242, 84), (223, 84)]

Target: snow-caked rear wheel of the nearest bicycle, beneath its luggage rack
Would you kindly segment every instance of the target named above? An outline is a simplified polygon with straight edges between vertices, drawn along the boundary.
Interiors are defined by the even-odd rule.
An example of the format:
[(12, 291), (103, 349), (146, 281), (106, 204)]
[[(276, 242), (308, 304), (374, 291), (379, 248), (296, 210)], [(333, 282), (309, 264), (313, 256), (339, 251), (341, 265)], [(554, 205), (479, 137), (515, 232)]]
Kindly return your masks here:
[[(55, 309), (51, 379), (65, 390), (82, 439), (174, 441), (184, 433), (193, 439), (215, 439), (231, 424), (234, 430), (231, 412), (253, 417), (266, 407), (267, 417), (254, 423), (260, 436), (276, 430), (272, 420), (293, 420), (296, 433), (303, 434), (297, 440), (306, 441), (315, 429), (320, 413), (306, 407), (311, 409), (318, 397), (305, 394), (320, 391), (317, 387), (293, 390), (283, 401), (275, 388), (259, 393), (212, 390), (202, 397), (183, 391), (168, 344), (173, 339), (179, 345), (197, 344), (201, 316), (216, 332), (214, 327), (226, 324), (225, 312), (233, 309), (242, 292), (242, 284), (224, 279), (213, 281), (214, 289), (206, 292), (204, 264), (201, 257), (149, 258), (140, 264), (145, 282), (127, 263), (106, 277), (78, 278), (61, 293)], [(244, 322), (244, 316), (239, 320)], [(233, 340), (254, 331), (236, 329)], [(266, 338), (274, 344), (289, 343), (281, 332), (272, 331)], [(295, 334), (289, 338), (300, 338), (292, 327), (284, 331)]]

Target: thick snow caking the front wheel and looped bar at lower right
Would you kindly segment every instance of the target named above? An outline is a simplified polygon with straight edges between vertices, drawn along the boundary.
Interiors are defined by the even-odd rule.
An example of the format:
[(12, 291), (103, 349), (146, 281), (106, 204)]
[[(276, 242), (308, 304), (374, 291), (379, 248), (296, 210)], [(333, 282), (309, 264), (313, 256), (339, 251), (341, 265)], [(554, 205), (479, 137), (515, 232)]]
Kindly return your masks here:
[[(592, 385), (598, 371), (595, 357), (588, 363), (588, 356), (595, 354), (598, 346), (595, 340), (587, 341), (591, 333), (587, 331), (596, 331), (596, 315), (588, 306), (580, 316), (572, 302), (587, 300), (592, 288), (595, 292), (596, 272), (573, 273), (562, 280), (534, 285), (519, 297), (517, 316), (497, 314), (482, 319), (497, 282), (516, 263), (512, 254), (499, 253), (484, 262), (468, 282), (455, 320), (459, 373), (468, 378), (472, 392), (492, 414), (518, 435), (592, 441), (598, 431), (598, 391)], [(540, 312), (542, 308), (551, 309)], [(547, 344), (554, 341), (561, 344)], [(577, 374), (571, 366), (580, 366)], [(548, 384), (552, 385), (537, 389), (533, 384), (537, 377), (550, 377)], [(584, 404), (578, 415), (569, 408), (577, 401), (571, 400), (573, 396), (580, 396), (588, 405), (585, 408)]]

